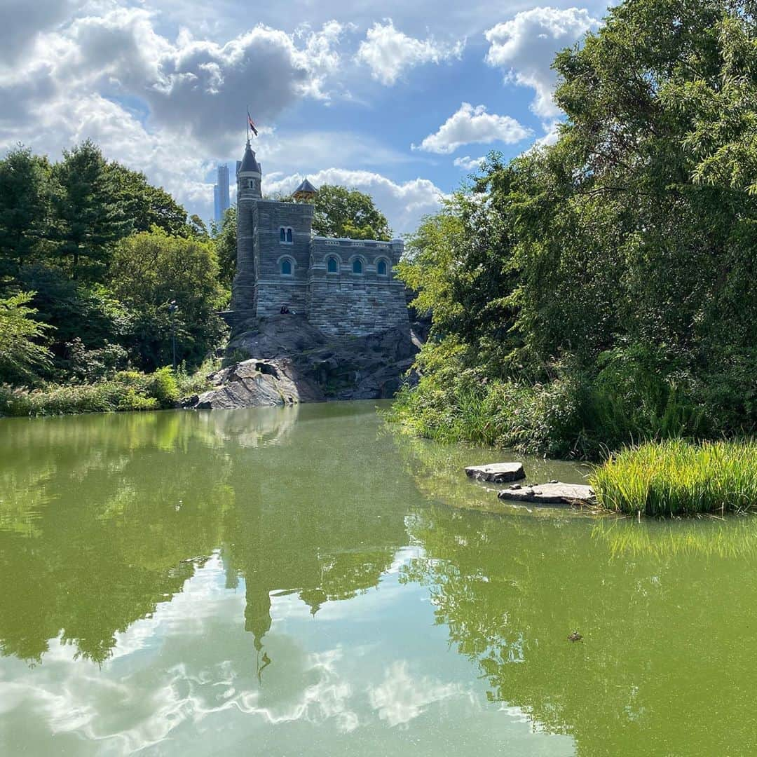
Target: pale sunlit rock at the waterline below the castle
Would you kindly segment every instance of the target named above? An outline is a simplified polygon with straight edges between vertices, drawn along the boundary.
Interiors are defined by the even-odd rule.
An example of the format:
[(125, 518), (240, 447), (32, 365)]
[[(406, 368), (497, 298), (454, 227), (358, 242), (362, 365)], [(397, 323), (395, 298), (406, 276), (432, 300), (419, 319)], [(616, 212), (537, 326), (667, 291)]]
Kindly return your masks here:
[(188, 397), (192, 410), (292, 405), (326, 400), (318, 386), (299, 375), (290, 360), (244, 360), (210, 375), (214, 388)]

